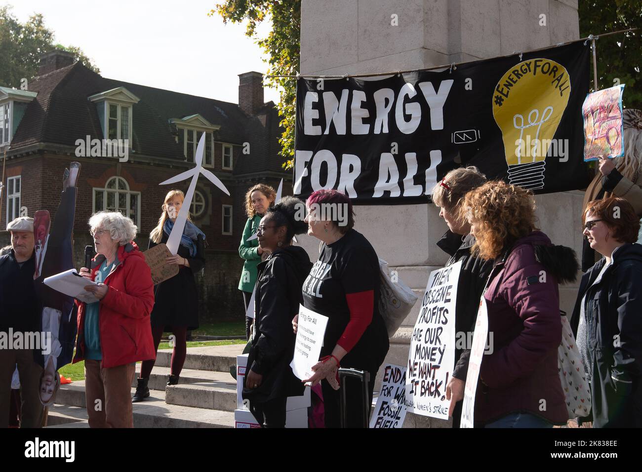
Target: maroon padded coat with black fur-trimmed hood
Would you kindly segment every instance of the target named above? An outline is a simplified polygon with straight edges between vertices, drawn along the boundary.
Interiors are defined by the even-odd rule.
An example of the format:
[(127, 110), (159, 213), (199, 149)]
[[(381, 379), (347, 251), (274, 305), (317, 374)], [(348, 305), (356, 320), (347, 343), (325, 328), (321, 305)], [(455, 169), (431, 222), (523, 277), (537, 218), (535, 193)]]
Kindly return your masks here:
[(534, 231), (497, 259), (484, 293), (492, 354), (482, 356), (476, 424), (526, 412), (566, 424), (557, 370), (562, 322), (557, 284), (575, 279), (575, 252)]

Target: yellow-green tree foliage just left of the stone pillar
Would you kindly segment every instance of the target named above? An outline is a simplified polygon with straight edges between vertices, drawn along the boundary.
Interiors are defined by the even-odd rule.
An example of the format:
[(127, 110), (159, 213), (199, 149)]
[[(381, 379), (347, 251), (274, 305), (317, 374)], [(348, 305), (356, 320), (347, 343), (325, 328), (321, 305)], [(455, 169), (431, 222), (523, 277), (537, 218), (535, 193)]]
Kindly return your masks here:
[[(270, 67), (266, 75), (296, 75), (299, 72), (301, 0), (225, 0), (208, 13), (209, 16), (217, 14), (223, 17), (224, 23), (248, 20), (245, 34), (256, 39), (268, 55)], [(266, 19), (272, 21), (272, 31), (266, 38), (257, 38), (256, 28)], [(295, 78), (272, 77), (266, 79), (266, 84), (280, 87), (278, 109), (284, 132), (279, 143), (281, 155), (286, 159), (283, 167), (290, 169), (294, 162), (297, 82)]]

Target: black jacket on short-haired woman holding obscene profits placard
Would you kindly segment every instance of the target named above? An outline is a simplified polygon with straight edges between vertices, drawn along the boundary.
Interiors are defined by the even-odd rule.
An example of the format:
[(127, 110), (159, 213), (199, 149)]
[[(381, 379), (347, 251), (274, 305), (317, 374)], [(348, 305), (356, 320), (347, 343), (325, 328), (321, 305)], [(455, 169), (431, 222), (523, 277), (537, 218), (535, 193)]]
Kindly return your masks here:
[[(451, 256), (446, 266), (462, 261), (462, 270), (457, 284), (455, 333), (459, 336), (461, 336), (460, 333), (465, 333), (465, 339), (472, 339), (468, 333), (473, 333), (475, 330), (480, 297), (494, 263), (492, 260), (485, 261), (472, 256), (471, 247), (474, 243), (475, 238), (472, 234), (462, 237), (461, 234), (455, 234), (450, 230), (437, 241), (437, 246)], [(470, 355), (470, 349), (455, 349), (453, 377), (466, 381)]]

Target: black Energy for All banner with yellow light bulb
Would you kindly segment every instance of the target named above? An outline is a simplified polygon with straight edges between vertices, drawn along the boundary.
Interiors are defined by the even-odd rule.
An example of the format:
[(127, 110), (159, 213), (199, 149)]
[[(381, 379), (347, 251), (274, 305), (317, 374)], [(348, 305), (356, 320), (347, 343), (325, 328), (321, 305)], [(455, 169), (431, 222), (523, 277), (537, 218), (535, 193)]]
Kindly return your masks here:
[(294, 193), (426, 202), (466, 165), (535, 193), (584, 188), (589, 50), (576, 42), (377, 80), (301, 78)]

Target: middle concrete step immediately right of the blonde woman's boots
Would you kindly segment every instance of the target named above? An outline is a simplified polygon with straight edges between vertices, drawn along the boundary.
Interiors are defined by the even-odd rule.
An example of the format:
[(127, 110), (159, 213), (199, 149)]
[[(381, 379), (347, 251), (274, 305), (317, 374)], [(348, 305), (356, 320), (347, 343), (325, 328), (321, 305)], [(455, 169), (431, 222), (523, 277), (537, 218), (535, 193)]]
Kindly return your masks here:
[[(232, 376), (230, 376), (232, 379)], [(222, 381), (170, 385), (165, 390), (168, 405), (193, 406), (208, 410), (234, 412), (236, 409), (236, 382)]]

